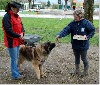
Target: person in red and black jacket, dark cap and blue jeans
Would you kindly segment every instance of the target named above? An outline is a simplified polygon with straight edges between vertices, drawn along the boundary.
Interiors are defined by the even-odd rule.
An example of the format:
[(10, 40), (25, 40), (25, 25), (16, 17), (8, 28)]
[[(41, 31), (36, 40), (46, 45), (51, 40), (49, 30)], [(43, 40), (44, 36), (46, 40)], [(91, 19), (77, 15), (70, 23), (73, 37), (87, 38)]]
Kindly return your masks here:
[(7, 12), (2, 19), (2, 28), (4, 31), (4, 44), (8, 48), (8, 52), (11, 58), (11, 72), (13, 79), (21, 79), (17, 67), (17, 61), (19, 56), (19, 48), (23, 43), (24, 28), (21, 22), (21, 18), (17, 14), (21, 8), (21, 4), (12, 1), (9, 2), (5, 8)]

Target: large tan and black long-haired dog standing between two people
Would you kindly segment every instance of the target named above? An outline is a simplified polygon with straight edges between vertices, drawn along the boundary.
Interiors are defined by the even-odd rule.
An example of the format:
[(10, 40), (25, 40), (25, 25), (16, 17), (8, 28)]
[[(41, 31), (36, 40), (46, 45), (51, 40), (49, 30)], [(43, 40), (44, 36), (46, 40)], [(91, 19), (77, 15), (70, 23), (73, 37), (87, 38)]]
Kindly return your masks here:
[(22, 64), (24, 60), (28, 60), (32, 62), (38, 79), (40, 79), (40, 77), (46, 77), (43, 72), (43, 63), (55, 46), (56, 44), (50, 41), (36, 45), (35, 47), (21, 45), (18, 59), (19, 71), (21, 70), (20, 64)]

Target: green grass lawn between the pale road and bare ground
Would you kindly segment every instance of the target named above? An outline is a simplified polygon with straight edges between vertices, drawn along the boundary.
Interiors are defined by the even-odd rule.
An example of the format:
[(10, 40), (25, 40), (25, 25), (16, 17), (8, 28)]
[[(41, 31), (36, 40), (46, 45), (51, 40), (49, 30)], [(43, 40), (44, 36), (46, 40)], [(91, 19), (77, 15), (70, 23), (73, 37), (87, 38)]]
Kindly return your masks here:
[[(1, 21), (2, 18), (0, 18)], [(25, 28), (26, 34), (38, 34), (41, 37), (44, 36), (42, 42), (47, 40), (55, 42), (56, 35), (71, 21), (72, 19), (50, 19), (50, 18), (22, 18), (22, 22)], [(94, 26), (96, 29), (99, 27), (99, 21), (94, 20)], [(90, 40), (90, 44), (99, 44), (99, 33), (96, 33)], [(0, 23), (0, 40), (3, 40), (3, 33)], [(60, 42), (70, 43), (70, 35), (61, 38)]]

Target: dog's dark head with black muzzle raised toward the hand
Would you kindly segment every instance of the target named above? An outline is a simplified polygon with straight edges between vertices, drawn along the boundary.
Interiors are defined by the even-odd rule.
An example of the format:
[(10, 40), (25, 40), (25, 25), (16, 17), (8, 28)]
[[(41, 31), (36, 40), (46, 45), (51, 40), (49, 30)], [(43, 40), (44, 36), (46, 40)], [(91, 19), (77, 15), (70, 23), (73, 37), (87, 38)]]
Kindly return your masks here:
[(51, 43), (50, 41), (43, 43), (42, 48), (44, 49), (43, 54), (49, 54), (51, 50), (56, 46), (55, 43)]

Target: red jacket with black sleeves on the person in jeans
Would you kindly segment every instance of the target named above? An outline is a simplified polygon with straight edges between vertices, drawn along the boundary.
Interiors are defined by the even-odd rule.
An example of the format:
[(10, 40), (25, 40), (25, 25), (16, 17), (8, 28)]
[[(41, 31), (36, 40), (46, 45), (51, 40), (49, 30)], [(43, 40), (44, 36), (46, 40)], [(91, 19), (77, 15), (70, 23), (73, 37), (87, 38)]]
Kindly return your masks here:
[(12, 11), (6, 13), (2, 20), (2, 28), (6, 47), (12, 48), (23, 43), (19, 37), (21, 33), (24, 33), (24, 28), (18, 14), (14, 14)]

